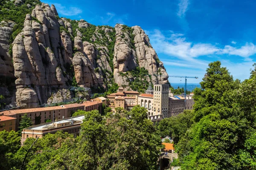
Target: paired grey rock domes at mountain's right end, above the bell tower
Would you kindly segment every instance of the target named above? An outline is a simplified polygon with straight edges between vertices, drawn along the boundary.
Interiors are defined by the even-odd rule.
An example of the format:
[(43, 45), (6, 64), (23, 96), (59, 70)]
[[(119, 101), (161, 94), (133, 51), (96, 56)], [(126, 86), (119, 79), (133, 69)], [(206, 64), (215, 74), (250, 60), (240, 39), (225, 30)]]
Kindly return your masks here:
[[(168, 83), (168, 74), (163, 63), (157, 57), (152, 48), (148, 36), (139, 26), (133, 26), (133, 32), (129, 33), (126, 26), (116, 24), (116, 43), (114, 48), (114, 78), (120, 85), (128, 85), (127, 77), (120, 73), (134, 70), (137, 66), (144, 67), (152, 77), (152, 83)], [(134, 35), (131, 39), (129, 34)], [(132, 45), (134, 43), (134, 47)], [(148, 79), (149, 81), (149, 79)]]

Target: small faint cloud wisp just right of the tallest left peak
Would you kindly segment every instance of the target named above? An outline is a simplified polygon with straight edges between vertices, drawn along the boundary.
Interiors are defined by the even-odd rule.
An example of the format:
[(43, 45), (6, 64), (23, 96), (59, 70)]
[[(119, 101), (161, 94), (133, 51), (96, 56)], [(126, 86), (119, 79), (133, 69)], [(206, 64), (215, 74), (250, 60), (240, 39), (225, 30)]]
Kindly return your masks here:
[(54, 5), (57, 9), (57, 12), (64, 16), (78, 15), (83, 12), (80, 8), (74, 6), (70, 6), (67, 8), (66, 6), (62, 6), (60, 3), (55, 3)]

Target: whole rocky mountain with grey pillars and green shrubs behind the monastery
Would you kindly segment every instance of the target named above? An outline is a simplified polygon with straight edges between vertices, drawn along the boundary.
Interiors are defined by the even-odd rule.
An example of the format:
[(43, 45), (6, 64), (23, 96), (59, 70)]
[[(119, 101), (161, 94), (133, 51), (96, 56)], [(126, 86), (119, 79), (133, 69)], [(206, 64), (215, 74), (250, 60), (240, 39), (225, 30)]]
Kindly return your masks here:
[[(38, 0), (0, 1), (0, 95), (6, 106), (34, 108), (70, 99), (71, 85), (108, 91), (169, 83), (139, 26), (94, 26), (60, 18)], [(13, 17), (10, 17), (12, 10)], [(25, 11), (27, 14), (23, 14)]]

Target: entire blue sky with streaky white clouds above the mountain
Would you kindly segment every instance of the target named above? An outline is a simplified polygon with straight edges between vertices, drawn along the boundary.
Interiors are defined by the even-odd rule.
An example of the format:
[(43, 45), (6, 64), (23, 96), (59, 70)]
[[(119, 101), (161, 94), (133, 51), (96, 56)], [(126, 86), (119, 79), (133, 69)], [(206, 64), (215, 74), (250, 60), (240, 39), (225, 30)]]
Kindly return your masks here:
[[(50, 0), (60, 17), (141, 26), (169, 75), (197, 76), (220, 60), (235, 79), (256, 62), (256, 0)], [(180, 82), (183, 79), (169, 78)]]

